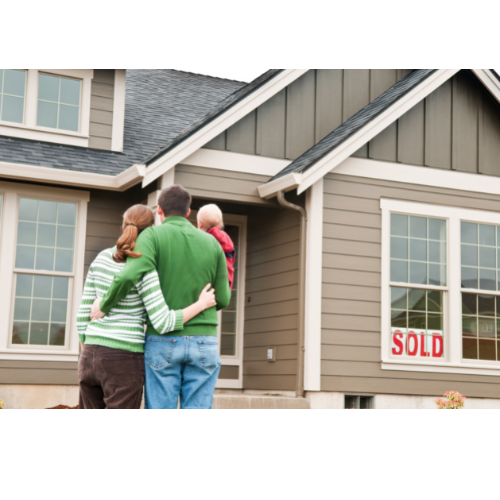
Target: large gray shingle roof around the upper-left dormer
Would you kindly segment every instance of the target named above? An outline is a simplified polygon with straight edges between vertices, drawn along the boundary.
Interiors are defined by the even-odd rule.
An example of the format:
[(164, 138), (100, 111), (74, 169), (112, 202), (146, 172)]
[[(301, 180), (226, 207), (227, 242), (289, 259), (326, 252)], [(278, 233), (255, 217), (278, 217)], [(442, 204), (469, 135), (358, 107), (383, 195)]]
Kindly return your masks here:
[(0, 136), (0, 161), (118, 175), (201, 120), (243, 82), (171, 69), (127, 70), (123, 153)]

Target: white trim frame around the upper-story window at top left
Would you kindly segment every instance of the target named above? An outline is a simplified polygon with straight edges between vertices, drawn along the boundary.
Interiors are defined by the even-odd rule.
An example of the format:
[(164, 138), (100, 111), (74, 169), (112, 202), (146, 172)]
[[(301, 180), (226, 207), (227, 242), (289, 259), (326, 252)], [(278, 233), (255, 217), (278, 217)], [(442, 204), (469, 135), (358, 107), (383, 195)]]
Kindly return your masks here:
[[(37, 125), (38, 81), (40, 73), (77, 78), (82, 81), (79, 132), (39, 127)], [(24, 98), (24, 122), (0, 121), (0, 135), (34, 141), (55, 142), (72, 146), (88, 147), (90, 127), (90, 97), (93, 69), (28, 69)]]

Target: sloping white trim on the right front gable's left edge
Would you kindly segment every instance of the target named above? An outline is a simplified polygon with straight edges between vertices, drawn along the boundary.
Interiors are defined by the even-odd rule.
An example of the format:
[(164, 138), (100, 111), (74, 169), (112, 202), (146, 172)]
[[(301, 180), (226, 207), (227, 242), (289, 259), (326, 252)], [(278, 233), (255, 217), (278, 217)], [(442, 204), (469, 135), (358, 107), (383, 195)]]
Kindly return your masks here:
[[(300, 185), (297, 188), (298, 194), (306, 191), (306, 189), (315, 184), (319, 179), (324, 177), (346, 158), (349, 158), (360, 147), (364, 146), (378, 134), (383, 132), (389, 125), (407, 113), (413, 106), (425, 99), (429, 94), (434, 92), (434, 90), (443, 85), (443, 83), (452, 78), (459, 71), (460, 69), (440, 69), (436, 71), (411, 92), (401, 97), (383, 113), (368, 122), (352, 137), (349, 137), (338, 147), (334, 148), (330, 153), (326, 154), (323, 158), (317, 161), (309, 170), (302, 174), (296, 174), (302, 176)], [(292, 183), (295, 179), (292, 180), (289, 178), (289, 185), (285, 185), (283, 182), (283, 179), (287, 177), (289, 178), (289, 176), (286, 176), (260, 186), (260, 195), (263, 198), (272, 198), (273, 196), (276, 196), (280, 190), (289, 191), (294, 189)]]

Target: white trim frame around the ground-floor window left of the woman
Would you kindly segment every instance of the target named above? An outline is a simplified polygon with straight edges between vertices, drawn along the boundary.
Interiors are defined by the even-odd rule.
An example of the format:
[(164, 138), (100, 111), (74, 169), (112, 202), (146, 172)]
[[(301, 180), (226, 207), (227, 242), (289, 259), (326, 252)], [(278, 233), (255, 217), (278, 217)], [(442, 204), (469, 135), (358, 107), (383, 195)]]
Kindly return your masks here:
[[(87, 230), (87, 206), (90, 200), (88, 191), (30, 186), (0, 182), (3, 196), (2, 220), (0, 226), (0, 360), (29, 361), (77, 361), (79, 339), (76, 329), (76, 315), (80, 306), (83, 290), (85, 263), (85, 239)], [(10, 326), (12, 324), (14, 297), (14, 269), (16, 258), (17, 212), (19, 197), (26, 196), (49, 201), (76, 203), (77, 226), (75, 240), (73, 289), (70, 290), (70, 321), (67, 324), (68, 342), (65, 348), (27, 348), (19, 349), (10, 345)], [(7, 217), (6, 213), (9, 213)], [(36, 271), (34, 274), (37, 274)], [(66, 275), (67, 273), (51, 273)]]

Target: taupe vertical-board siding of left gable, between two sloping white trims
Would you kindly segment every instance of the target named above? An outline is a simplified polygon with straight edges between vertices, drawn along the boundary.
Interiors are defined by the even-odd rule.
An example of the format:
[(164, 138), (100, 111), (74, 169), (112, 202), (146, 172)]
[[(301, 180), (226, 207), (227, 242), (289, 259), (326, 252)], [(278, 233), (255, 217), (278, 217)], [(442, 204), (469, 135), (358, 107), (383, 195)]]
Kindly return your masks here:
[(311, 69), (204, 147), (295, 160), (411, 71)]

